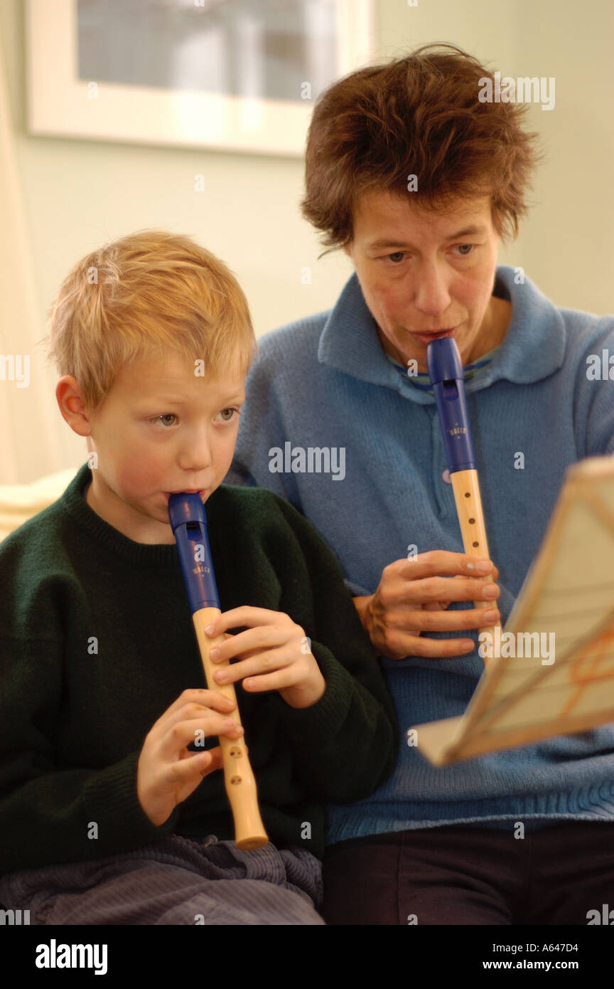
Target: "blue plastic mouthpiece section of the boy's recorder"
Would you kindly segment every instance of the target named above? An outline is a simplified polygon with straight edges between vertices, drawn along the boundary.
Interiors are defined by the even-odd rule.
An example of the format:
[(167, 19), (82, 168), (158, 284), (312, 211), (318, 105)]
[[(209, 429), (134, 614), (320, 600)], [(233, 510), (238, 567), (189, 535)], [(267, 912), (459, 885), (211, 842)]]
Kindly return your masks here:
[(199, 494), (171, 494), (169, 519), (184, 572), (192, 614), (219, 608), (204, 505)]

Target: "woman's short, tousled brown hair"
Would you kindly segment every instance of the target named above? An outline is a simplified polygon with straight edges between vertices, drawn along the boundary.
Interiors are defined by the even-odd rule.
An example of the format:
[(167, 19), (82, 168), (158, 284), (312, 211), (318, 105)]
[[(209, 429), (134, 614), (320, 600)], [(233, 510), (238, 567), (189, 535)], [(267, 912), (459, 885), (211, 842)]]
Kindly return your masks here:
[(486, 77), (495, 81), (457, 45), (422, 45), (351, 72), (322, 93), (307, 136), (301, 210), (325, 232), (323, 245), (333, 250), (351, 241), (359, 195), (407, 196), (410, 175), (422, 208), (487, 193), (499, 236), (517, 235), (543, 154), (534, 146), (538, 135), (522, 130), (526, 104), (480, 102)]

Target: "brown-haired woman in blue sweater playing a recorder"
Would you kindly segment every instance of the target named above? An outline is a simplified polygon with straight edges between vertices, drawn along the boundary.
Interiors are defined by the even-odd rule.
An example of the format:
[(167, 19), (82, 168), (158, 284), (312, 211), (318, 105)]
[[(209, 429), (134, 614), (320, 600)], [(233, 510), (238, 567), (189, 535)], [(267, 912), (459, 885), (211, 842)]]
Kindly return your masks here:
[[(330, 313), (259, 341), (226, 478), (281, 494), (336, 552), (407, 729), (464, 711), (477, 629), (507, 618), (567, 466), (614, 450), (613, 386), (586, 378), (614, 319), (497, 264), (538, 160), (526, 108), (483, 102), (491, 73), (438, 48), (360, 69), (314, 109), (303, 215), (355, 272)], [(476, 582), (499, 581), (492, 561), (444, 549), (462, 543), (425, 373), (441, 333), (465, 365), (499, 584)], [(492, 615), (473, 607), (489, 591)], [(413, 742), (371, 797), (329, 808), (328, 923), (585, 924), (607, 902), (614, 726), (443, 768)]]

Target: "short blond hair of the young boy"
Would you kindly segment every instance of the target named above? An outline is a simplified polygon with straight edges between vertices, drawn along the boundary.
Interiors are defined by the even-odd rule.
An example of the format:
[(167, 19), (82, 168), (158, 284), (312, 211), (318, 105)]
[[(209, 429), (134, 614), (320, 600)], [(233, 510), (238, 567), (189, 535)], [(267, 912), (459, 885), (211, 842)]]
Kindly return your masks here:
[[(78, 382), (92, 413), (124, 364), (174, 352), (205, 373), (247, 374), (258, 344), (229, 268), (191, 237), (140, 230), (70, 270), (47, 315), (47, 360)], [(38, 341), (42, 342), (42, 341)]]

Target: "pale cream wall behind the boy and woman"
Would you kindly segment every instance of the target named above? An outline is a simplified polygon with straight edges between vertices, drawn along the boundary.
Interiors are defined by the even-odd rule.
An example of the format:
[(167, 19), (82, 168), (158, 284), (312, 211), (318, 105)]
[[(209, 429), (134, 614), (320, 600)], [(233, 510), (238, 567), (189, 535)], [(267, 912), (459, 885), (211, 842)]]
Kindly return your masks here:
[[(24, 20), (19, 0), (0, 0), (0, 353), (31, 354), (29, 388), (0, 381), (0, 484), (86, 459), (34, 341), (61, 279), (95, 246), (142, 227), (190, 234), (235, 272), (258, 335), (330, 309), (352, 271), (342, 253), (317, 261), (298, 210), (302, 159), (30, 137)], [(614, 310), (613, 41), (604, 0), (376, 0), (376, 60), (452, 42), (502, 75), (555, 77), (555, 109), (533, 105), (528, 119), (548, 155), (535, 205), (499, 261), (559, 306), (598, 314)]]

